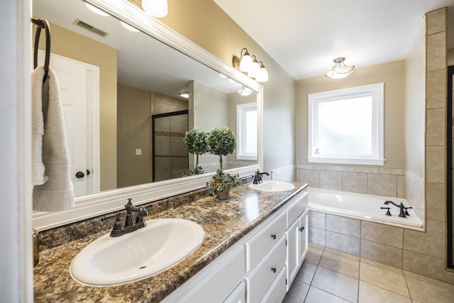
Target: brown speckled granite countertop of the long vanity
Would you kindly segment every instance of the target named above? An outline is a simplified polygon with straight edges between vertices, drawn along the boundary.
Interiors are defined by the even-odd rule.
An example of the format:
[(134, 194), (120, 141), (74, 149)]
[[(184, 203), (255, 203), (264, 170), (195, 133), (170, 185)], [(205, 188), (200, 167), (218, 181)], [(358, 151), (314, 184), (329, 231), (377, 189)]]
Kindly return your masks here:
[(214, 202), (211, 197), (204, 197), (150, 214), (146, 220), (192, 220), (204, 228), (204, 241), (172, 268), (125, 285), (90, 287), (70, 276), (74, 256), (110, 229), (43, 250), (34, 270), (35, 302), (160, 302), (277, 211), (302, 187), (304, 184), (295, 183), (291, 191), (269, 193), (244, 186), (232, 189), (230, 199), (225, 201)]

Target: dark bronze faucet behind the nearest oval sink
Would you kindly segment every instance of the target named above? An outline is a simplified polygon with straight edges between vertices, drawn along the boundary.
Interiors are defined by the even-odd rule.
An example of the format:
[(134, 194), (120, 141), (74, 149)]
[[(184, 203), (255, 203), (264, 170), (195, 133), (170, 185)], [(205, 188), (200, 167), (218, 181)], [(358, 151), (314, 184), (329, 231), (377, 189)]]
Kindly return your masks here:
[[(148, 216), (148, 211), (143, 207), (135, 207), (131, 198), (128, 199), (128, 203), (125, 204), (126, 208), (126, 221), (123, 225), (121, 221), (120, 212), (116, 213), (116, 221), (114, 228), (111, 231), (111, 237), (123, 236), (126, 233), (137, 231), (139, 228), (147, 226), (147, 223), (143, 219), (144, 216)], [(134, 219), (133, 211), (137, 212), (137, 217)]]

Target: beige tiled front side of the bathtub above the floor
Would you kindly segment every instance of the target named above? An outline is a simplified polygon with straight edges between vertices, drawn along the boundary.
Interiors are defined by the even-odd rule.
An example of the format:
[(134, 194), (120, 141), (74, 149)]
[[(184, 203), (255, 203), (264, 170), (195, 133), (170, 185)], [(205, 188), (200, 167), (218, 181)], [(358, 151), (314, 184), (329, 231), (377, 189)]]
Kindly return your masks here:
[[(445, 271), (442, 222), (427, 221), (426, 233), (407, 228), (309, 211), (309, 242), (454, 284)], [(421, 241), (421, 235), (424, 241)]]

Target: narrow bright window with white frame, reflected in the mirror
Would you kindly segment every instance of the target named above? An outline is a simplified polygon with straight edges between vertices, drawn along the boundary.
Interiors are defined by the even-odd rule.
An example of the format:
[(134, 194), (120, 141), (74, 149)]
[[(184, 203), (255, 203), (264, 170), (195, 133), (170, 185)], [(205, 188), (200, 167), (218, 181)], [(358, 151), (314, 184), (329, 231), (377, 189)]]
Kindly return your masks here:
[(236, 158), (257, 160), (258, 120), (257, 104), (239, 104), (236, 106), (237, 147)]

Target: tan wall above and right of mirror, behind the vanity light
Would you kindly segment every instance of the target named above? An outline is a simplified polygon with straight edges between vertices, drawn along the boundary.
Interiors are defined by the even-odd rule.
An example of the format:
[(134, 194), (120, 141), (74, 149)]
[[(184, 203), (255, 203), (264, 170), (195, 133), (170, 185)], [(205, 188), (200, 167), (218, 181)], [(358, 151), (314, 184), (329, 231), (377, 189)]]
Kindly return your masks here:
[[(214, 1), (169, 0), (169, 14), (162, 23), (192, 40), (197, 45), (232, 64), (233, 55), (239, 56), (248, 48), (264, 62), (270, 80), (264, 87), (264, 169), (293, 165), (295, 158), (295, 97), (294, 79), (260, 45), (250, 38)], [(283, 133), (288, 136), (282, 136)]]

